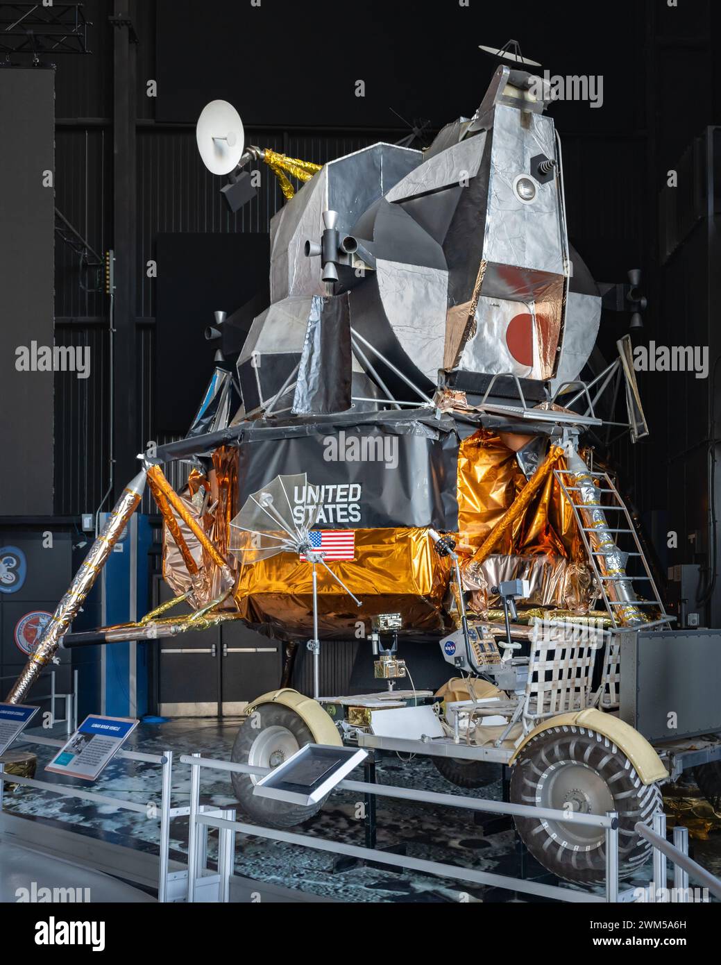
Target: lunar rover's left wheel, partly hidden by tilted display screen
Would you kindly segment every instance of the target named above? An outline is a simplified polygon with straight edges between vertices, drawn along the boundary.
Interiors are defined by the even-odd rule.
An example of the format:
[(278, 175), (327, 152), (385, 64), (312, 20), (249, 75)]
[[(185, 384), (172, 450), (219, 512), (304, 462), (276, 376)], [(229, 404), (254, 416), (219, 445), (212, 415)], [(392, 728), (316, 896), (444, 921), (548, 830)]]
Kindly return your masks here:
[[(299, 714), (281, 703), (262, 703), (237, 731), (231, 760), (255, 767), (277, 767), (305, 744), (311, 743), (313, 734)], [(253, 793), (258, 780), (260, 778), (250, 774), (231, 776), (242, 810), (258, 824), (292, 828), (319, 813), (323, 806), (323, 801), (306, 808), (259, 797)]]

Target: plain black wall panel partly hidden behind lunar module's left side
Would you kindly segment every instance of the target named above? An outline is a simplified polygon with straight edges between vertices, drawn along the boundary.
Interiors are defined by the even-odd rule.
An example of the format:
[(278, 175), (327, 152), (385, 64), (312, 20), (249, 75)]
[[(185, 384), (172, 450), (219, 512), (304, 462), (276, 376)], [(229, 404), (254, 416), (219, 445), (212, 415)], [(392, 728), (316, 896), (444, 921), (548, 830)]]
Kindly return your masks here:
[(205, 329), (263, 287), (268, 258), (266, 234), (158, 235), (156, 430), (187, 431), (212, 367)]

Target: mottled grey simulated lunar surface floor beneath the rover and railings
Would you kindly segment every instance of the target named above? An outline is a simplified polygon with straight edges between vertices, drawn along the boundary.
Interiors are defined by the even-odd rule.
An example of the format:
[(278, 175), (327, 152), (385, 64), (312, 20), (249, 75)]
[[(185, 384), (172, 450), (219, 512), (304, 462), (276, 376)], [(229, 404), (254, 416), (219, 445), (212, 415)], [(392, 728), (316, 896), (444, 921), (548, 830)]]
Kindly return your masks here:
[[(200, 753), (204, 757), (228, 760), (236, 736), (238, 719), (196, 718), (174, 720), (165, 724), (141, 724), (132, 734), (129, 750), (159, 754), (175, 753), (173, 768), (173, 805), (187, 805), (190, 768), (177, 762), (181, 754)], [(48, 731), (42, 732), (48, 736)], [(53, 734), (61, 737), (62, 733)], [(45, 772), (54, 749), (41, 745), (20, 744), (14, 749), (32, 750), (38, 755), (37, 777), (42, 781), (67, 784), (67, 778)], [(236, 805), (229, 775), (204, 770), (202, 803), (218, 807)], [(111, 761), (101, 774), (95, 789), (121, 800), (155, 804), (159, 812), (160, 769), (154, 764), (119, 759)], [(363, 780), (358, 768), (351, 777)], [(442, 793), (477, 796), (500, 800), (502, 796), (500, 768), (498, 779), (478, 790), (463, 790), (448, 784), (436, 771), (430, 758), (406, 759), (396, 754), (381, 758), (376, 766), (378, 784), (433, 790)], [(80, 783), (87, 789), (85, 783)], [(346, 791), (331, 795), (323, 810), (293, 831), (311, 837), (363, 846), (364, 825), (358, 813), (358, 795)], [(127, 847), (156, 850), (159, 822), (156, 817), (118, 811), (111, 806), (99, 807), (91, 802), (58, 797), (35, 788), (17, 787), (6, 792), (4, 808), (35, 820), (62, 822), (72, 830)], [(150, 809), (152, 811), (152, 809)], [(244, 819), (244, 818), (241, 818)], [(487, 820), (487, 818), (485, 818)], [(187, 818), (177, 818), (171, 828), (171, 856), (183, 860), (187, 851)], [(474, 822), (473, 813), (458, 808), (438, 808), (412, 801), (377, 798), (377, 847), (402, 845), (410, 857), (455, 865), (461, 868), (511, 874), (514, 877), (539, 877), (542, 869), (525, 855), (511, 827), (490, 825), (484, 828)], [(210, 860), (214, 858), (214, 842), (210, 841)], [(714, 874), (721, 872), (721, 833), (711, 834), (707, 841), (691, 841), (692, 855)], [(358, 902), (458, 902), (527, 900), (508, 891), (498, 891), (471, 883), (438, 878), (408, 869), (383, 869), (356, 864), (338, 867), (336, 856), (327, 851), (298, 847), (259, 837), (236, 836), (236, 875), (289, 888), (326, 900)], [(641, 869), (628, 884), (643, 886), (652, 878), (651, 868)], [(553, 879), (542, 880), (554, 883)]]

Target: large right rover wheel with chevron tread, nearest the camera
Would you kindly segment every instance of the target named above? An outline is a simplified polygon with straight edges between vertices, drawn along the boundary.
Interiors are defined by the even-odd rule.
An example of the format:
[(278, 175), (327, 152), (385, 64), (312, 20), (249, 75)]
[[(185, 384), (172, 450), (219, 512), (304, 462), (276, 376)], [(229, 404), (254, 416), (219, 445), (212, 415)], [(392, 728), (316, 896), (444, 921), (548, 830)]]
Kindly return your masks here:
[[(596, 731), (554, 727), (526, 744), (513, 767), (513, 804), (574, 812), (619, 814), (619, 873), (629, 877), (651, 857), (651, 844), (635, 831), (652, 825), (662, 808), (657, 785), (644, 785), (630, 760)], [(571, 821), (515, 817), (521, 840), (541, 865), (568, 881), (605, 881), (603, 828)]]

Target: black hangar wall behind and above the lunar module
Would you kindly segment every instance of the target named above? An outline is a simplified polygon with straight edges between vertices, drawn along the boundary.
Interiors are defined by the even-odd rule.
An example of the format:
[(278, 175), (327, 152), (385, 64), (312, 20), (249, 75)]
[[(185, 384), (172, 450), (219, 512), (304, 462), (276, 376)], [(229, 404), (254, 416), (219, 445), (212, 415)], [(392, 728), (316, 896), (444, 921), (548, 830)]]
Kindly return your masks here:
[[(164, 267), (162, 239), (186, 235), (187, 255), (199, 234), (212, 234), (217, 257), (237, 275), (237, 304), (232, 281), (218, 304), (212, 273), (186, 275), (193, 312), (178, 318), (177, 345), (197, 345), (212, 311), (233, 311), (247, 285), (230, 236), (266, 232), (283, 203), (268, 176), (253, 202), (228, 212), (222, 180), (208, 174), (195, 146), (197, 113), (213, 97), (236, 104), (249, 141), (323, 162), (408, 133), (391, 108), (408, 122), (428, 120), (429, 135), (471, 114), (493, 69), (479, 43), (513, 36), (552, 74), (601, 74), (602, 107), (560, 101), (549, 112), (564, 147), (571, 240), (599, 281), (622, 281), (629, 268), (642, 269), (649, 308), (634, 339), (669, 345), (711, 339), (718, 262), (709, 249), (713, 185), (703, 171), (692, 166), (679, 185), (684, 230), (668, 258), (659, 232), (659, 210), (673, 190), (666, 188), (667, 171), (680, 169), (689, 144), (721, 120), (711, 41), (721, 17), (711, 0), (679, 0), (678, 7), (667, 0), (593, 7), (558, 0), (542, 12), (532, 2), (511, 11), (480, 0), (467, 7), (435, 0), (369, 3), (361, 13), (330, 0), (307, 11), (288, 0), (262, 0), (260, 9), (221, 0), (93, 0), (85, 13), (93, 21), (92, 54), (47, 58), (57, 64), (56, 204), (98, 252), (118, 253), (116, 488), (132, 475), (145, 441), (173, 434), (158, 419), (158, 393), (168, 391), (158, 380), (159, 329), (167, 328), (167, 318), (156, 323), (158, 290), (164, 271), (173, 275), (177, 268)], [(132, 31), (111, 25), (113, 14), (129, 16)], [(365, 98), (353, 94), (357, 79), (366, 81)], [(156, 97), (147, 96), (149, 80), (157, 82)], [(704, 154), (703, 170), (712, 167), (707, 162)], [(689, 188), (699, 178), (701, 187)], [(218, 245), (220, 236), (228, 236), (227, 247)], [(148, 277), (149, 260), (158, 262), (157, 279)], [(94, 510), (109, 479), (109, 306), (81, 281), (76, 256), (58, 243), (56, 341), (90, 345), (93, 359), (88, 380), (63, 373), (55, 380), (55, 511), (69, 515)], [(604, 317), (601, 344), (609, 356), (627, 327), (627, 316)], [(212, 350), (202, 353), (188, 350), (186, 364), (209, 372)], [(173, 379), (179, 394), (182, 354)], [(717, 354), (712, 345), (711, 366)], [(674, 379), (640, 373), (651, 439), (632, 452), (622, 439), (612, 454), (662, 564), (698, 557), (710, 567), (715, 386), (710, 376), (704, 384), (692, 375)], [(672, 528), (679, 550), (669, 553)], [(688, 539), (694, 533), (698, 542)]]

